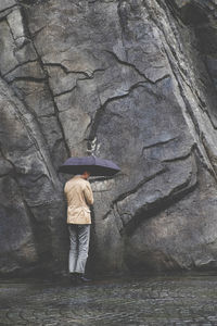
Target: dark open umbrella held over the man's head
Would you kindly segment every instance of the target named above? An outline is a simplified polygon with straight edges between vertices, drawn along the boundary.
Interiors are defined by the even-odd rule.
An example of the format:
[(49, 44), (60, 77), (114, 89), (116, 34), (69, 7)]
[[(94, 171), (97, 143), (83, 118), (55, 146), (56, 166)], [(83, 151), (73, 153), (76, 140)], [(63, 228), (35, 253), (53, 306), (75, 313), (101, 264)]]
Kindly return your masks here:
[(94, 155), (69, 158), (59, 167), (59, 172), (68, 174), (81, 174), (84, 171), (89, 171), (91, 176), (112, 176), (120, 168), (114, 162)]

